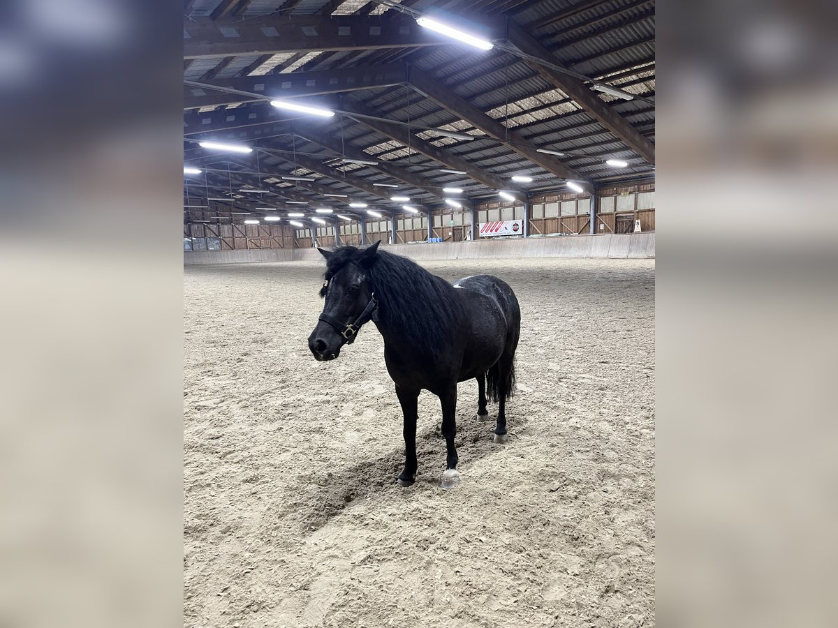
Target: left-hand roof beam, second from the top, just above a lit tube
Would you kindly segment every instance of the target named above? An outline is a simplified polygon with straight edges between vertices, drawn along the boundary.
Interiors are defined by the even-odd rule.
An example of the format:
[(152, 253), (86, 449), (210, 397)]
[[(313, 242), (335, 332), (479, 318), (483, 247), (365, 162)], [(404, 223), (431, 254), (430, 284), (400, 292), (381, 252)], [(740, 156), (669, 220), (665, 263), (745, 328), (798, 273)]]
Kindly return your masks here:
[[(215, 70), (210, 70), (210, 72)], [(202, 80), (206, 83), (206, 80)], [(407, 82), (404, 64), (362, 65), (352, 69), (324, 70), (318, 72), (291, 72), (266, 76), (243, 76), (235, 79), (215, 80), (215, 87), (264, 94), (272, 98), (301, 98), (305, 96), (334, 94), (341, 91), (366, 90), (370, 87), (404, 85)], [(230, 105), (236, 102), (254, 102), (255, 95), (228, 94), (198, 87), (184, 86), (184, 109)]]

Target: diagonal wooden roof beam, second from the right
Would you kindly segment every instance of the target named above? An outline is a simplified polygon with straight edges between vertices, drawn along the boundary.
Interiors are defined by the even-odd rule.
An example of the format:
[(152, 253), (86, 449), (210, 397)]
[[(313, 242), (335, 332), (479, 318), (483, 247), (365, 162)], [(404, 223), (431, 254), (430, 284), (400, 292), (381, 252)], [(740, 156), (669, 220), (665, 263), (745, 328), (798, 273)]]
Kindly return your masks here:
[(527, 142), (524, 136), (517, 131), (507, 129), (499, 121), (487, 116), (478, 107), (473, 106), (462, 96), (448, 90), (444, 85), (434, 80), (422, 70), (412, 67), (409, 75), (410, 84), (422, 95), (433, 100), (437, 105), (442, 106), (457, 114), (464, 121), (476, 126), (484, 133), (494, 137), (505, 147), (518, 153), (521, 157), (529, 159), (530, 162), (544, 168), (547, 172), (555, 174), (558, 178), (573, 179), (576, 181), (588, 182), (587, 178), (572, 167), (566, 166), (556, 157), (545, 155), (535, 151), (535, 146)]

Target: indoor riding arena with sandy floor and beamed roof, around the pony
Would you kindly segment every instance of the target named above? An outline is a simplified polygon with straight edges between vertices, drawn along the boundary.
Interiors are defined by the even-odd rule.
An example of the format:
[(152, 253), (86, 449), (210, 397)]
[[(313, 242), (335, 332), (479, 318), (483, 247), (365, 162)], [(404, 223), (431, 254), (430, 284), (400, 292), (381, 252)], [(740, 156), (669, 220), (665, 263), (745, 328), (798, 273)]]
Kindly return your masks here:
[[(651, 2), (185, 3), (185, 625), (654, 625), (654, 71)], [(505, 430), (419, 386), (402, 481), (475, 275)]]

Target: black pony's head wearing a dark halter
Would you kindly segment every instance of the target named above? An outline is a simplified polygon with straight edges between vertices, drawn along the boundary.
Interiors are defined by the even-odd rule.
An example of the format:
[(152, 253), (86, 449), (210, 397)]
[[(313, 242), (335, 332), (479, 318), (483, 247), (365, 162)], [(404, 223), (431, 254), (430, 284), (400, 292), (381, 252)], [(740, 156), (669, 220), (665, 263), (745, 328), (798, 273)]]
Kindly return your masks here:
[(366, 249), (342, 246), (318, 249), (326, 258), (326, 275), (320, 296), (323, 313), (308, 337), (308, 348), (317, 360), (334, 360), (344, 344), (351, 344), (360, 327), (375, 316), (375, 297), (367, 270), (375, 262), (380, 242)]

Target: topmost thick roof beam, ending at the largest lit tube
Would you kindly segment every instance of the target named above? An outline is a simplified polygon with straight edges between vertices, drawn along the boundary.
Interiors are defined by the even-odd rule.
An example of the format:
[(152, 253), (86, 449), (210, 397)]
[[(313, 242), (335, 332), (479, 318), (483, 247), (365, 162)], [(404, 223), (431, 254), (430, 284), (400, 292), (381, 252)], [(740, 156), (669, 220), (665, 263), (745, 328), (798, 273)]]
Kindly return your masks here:
[[(499, 26), (499, 23), (496, 23)], [(496, 33), (503, 33), (499, 28)], [(370, 20), (357, 16), (261, 16), (245, 21), (199, 19), (184, 22), (184, 59), (242, 54), (313, 52), (438, 46), (450, 39), (407, 16)]]

